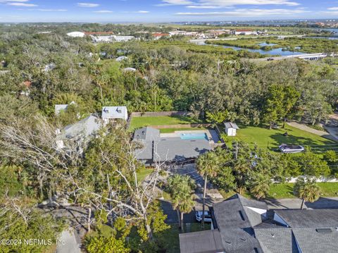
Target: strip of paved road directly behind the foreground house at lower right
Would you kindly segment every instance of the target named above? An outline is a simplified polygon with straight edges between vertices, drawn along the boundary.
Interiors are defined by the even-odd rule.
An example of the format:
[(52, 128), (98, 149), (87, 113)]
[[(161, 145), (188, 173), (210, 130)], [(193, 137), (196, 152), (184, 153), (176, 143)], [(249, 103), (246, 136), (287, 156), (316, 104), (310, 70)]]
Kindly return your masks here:
[[(272, 199), (265, 201), (269, 209), (300, 209), (301, 199)], [(320, 197), (316, 202), (305, 202), (304, 209), (338, 209), (338, 197)]]

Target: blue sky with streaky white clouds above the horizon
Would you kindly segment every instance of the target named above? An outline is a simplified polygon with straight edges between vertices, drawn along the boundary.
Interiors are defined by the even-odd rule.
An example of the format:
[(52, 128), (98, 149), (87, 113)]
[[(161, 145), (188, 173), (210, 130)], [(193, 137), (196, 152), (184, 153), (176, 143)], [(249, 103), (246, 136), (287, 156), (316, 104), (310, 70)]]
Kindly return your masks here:
[(338, 0), (0, 0), (0, 22), (338, 20)]

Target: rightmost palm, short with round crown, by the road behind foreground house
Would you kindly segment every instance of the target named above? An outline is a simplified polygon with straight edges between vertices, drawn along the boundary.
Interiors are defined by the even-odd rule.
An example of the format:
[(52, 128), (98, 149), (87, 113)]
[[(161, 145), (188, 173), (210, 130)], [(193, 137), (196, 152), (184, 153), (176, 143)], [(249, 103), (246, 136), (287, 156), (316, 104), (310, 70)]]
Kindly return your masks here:
[(294, 184), (294, 195), (301, 199), (301, 209), (304, 202), (315, 202), (320, 197), (320, 187), (315, 183), (315, 179), (299, 178)]

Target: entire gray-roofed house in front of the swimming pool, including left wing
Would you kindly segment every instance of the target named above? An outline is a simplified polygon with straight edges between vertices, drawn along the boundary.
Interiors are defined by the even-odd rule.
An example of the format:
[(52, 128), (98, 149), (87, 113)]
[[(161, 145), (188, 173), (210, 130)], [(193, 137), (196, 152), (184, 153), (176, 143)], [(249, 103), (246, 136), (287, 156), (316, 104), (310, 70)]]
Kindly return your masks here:
[(161, 137), (160, 130), (150, 127), (134, 132), (134, 142), (142, 147), (136, 150), (136, 158), (146, 166), (155, 162), (185, 161), (196, 159), (211, 150), (208, 140), (189, 140), (182, 137)]

